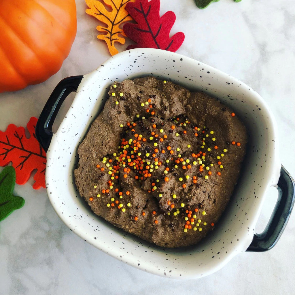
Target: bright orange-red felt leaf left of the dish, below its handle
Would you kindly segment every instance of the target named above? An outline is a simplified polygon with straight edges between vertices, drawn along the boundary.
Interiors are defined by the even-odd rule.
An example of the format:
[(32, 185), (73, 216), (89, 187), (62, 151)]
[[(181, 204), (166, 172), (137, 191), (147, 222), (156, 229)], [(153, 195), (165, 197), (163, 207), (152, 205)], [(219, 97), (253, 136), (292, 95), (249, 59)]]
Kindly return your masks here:
[(24, 127), (10, 124), (5, 132), (0, 131), (0, 166), (12, 162), (16, 172), (16, 183), (24, 184), (30, 178), (33, 170), (35, 183), (33, 189), (45, 188), (46, 154), (39, 144), (35, 127), (37, 118), (32, 117), (27, 124), (30, 138), (26, 137)]

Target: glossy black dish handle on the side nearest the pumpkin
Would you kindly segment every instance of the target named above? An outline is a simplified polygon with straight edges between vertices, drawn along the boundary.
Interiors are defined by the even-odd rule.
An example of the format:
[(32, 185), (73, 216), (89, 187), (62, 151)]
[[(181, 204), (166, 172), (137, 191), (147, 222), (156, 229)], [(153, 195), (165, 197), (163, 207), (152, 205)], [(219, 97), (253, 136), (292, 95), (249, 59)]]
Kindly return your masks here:
[(77, 91), (83, 76), (64, 78), (53, 90), (47, 100), (36, 124), (36, 137), (42, 148), (47, 152), (53, 135), (52, 126), (65, 98), (73, 91)]

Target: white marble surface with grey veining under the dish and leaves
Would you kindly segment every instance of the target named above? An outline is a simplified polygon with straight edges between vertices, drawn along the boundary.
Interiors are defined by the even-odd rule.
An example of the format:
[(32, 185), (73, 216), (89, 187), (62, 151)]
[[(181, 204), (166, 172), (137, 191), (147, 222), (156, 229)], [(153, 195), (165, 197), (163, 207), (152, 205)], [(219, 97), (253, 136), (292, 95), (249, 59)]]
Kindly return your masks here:
[[(67, 76), (86, 74), (109, 54), (96, 39), (97, 22), (76, 0), (78, 32), (58, 73), (44, 83), (0, 94), (0, 130), (25, 126), (38, 117), (55, 85)], [(180, 54), (212, 65), (257, 91), (275, 114), (281, 163), (295, 176), (295, 5), (287, 0), (221, 0), (204, 10), (193, 0), (161, 0), (172, 10), (172, 33), (186, 38)], [(121, 46), (119, 51), (124, 50)], [(59, 120), (70, 104), (67, 99)], [(1, 168), (0, 168), (1, 170)], [(295, 288), (295, 213), (277, 245), (264, 253), (240, 253), (217, 273), (176, 281), (132, 268), (84, 242), (60, 221), (45, 189), (32, 178), (16, 185), (26, 203), (0, 223), (0, 294), (291, 294)], [(276, 189), (270, 188), (257, 224), (266, 225)]]

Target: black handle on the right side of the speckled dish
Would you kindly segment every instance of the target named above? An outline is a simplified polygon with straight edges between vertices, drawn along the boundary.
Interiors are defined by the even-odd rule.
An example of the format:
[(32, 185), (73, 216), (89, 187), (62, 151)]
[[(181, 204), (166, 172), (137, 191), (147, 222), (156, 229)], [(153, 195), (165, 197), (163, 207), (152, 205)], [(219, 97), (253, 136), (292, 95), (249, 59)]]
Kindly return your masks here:
[(278, 242), (289, 220), (295, 199), (295, 183), (292, 176), (281, 166), (278, 180), (278, 201), (271, 218), (261, 234), (254, 234), (253, 240), (246, 251), (263, 252), (270, 250)]

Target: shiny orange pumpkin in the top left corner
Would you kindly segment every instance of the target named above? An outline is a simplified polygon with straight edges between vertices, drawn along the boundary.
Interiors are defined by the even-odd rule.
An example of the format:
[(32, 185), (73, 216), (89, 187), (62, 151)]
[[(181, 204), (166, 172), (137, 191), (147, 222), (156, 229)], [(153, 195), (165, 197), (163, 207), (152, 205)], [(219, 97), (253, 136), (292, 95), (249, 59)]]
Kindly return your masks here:
[(0, 92), (55, 74), (76, 32), (75, 0), (0, 0)]

